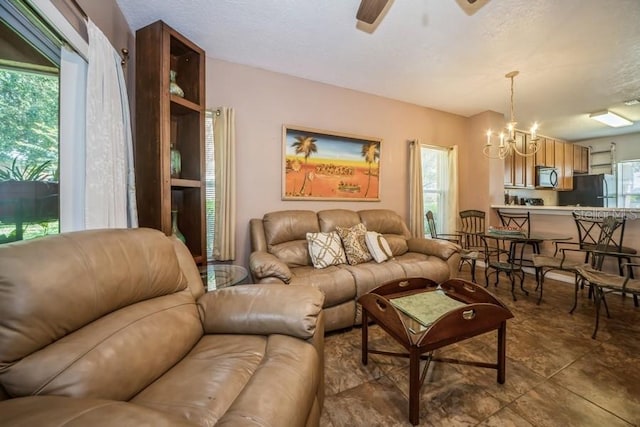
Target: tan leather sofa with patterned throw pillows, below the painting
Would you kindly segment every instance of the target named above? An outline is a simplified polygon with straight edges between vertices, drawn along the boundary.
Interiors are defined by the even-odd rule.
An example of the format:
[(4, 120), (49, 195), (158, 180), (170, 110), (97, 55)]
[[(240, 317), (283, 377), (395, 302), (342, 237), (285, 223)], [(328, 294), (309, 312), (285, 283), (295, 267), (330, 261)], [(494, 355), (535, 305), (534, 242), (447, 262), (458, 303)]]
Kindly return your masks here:
[[(394, 259), (382, 263), (313, 267), (307, 232), (329, 232), (363, 223), (381, 233)], [(444, 240), (411, 238), (402, 218), (387, 209), (319, 212), (285, 210), (250, 220), (252, 253), (249, 266), (256, 283), (312, 286), (325, 294), (325, 329), (332, 331), (361, 324), (356, 300), (375, 287), (404, 277), (426, 277), (442, 283), (455, 277), (460, 247)]]

